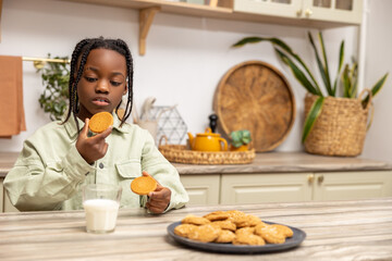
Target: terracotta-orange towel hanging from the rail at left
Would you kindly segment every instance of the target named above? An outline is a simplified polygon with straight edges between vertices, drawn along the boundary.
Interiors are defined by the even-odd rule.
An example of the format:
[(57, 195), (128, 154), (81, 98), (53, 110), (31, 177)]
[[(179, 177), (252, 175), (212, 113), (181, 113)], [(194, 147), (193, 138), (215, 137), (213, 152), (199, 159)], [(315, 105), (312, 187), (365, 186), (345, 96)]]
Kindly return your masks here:
[(26, 130), (22, 58), (0, 55), (0, 138), (11, 138), (22, 130)]

